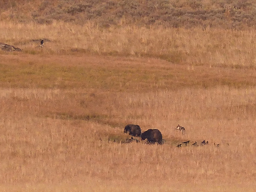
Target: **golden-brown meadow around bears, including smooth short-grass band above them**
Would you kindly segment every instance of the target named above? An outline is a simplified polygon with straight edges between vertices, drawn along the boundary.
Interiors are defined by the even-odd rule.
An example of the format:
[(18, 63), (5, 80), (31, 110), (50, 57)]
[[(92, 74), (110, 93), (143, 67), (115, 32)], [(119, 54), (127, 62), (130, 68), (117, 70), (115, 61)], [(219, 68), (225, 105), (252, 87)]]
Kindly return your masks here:
[[(253, 78), (242, 80), (254, 69), (81, 54), (1, 57), (2, 191), (254, 190), (255, 88)], [(206, 71), (216, 83), (200, 76)], [(234, 84), (219, 84), (223, 75)], [(159, 129), (164, 145), (122, 143), (128, 123)], [(209, 145), (176, 147), (204, 139)]]

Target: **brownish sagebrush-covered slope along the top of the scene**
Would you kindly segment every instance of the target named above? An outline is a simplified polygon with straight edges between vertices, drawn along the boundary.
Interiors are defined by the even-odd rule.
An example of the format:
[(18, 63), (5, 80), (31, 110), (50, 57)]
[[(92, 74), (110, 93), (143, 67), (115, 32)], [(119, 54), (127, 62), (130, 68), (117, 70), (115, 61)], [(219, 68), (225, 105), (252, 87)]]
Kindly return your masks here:
[(135, 23), (240, 29), (254, 26), (255, 7), (252, 0), (4, 0), (0, 2), (0, 18), (39, 24), (54, 20), (84, 24), (90, 20), (101, 27)]

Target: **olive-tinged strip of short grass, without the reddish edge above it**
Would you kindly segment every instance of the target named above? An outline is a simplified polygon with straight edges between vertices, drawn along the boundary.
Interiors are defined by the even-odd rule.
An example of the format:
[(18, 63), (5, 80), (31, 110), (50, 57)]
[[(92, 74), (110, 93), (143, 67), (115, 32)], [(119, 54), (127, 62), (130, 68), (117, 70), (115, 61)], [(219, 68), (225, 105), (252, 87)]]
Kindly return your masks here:
[[(75, 57), (75, 56), (74, 56)], [(75, 58), (74, 58), (75, 59)], [(65, 61), (63, 61), (65, 62)], [(230, 87), (254, 86), (253, 76), (244, 78), (240, 69), (232, 73), (225, 68), (194, 66), (192, 70), (184, 65), (162, 66), (81, 66), (66, 63), (39, 65), (0, 64), (0, 86), (18, 88), (60, 88), (98, 89), (112, 92), (145, 92), (159, 89), (179, 89), (186, 87), (209, 88), (226, 85)], [(246, 69), (253, 70), (253, 69)], [(239, 71), (239, 72), (238, 72)], [(222, 74), (223, 73), (223, 74)]]

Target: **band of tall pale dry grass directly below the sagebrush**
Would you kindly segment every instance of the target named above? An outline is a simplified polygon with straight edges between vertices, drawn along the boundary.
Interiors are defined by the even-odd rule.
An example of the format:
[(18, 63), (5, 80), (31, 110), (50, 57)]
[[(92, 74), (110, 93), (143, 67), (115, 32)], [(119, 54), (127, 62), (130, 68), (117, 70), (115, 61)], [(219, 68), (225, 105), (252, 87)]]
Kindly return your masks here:
[[(104, 55), (158, 57), (172, 63), (208, 67), (254, 67), (255, 31), (224, 29), (138, 27), (100, 28), (97, 23), (51, 25), (1, 22), (0, 41), (20, 47), (24, 53), (88, 52)], [(41, 49), (32, 39), (47, 38)]]

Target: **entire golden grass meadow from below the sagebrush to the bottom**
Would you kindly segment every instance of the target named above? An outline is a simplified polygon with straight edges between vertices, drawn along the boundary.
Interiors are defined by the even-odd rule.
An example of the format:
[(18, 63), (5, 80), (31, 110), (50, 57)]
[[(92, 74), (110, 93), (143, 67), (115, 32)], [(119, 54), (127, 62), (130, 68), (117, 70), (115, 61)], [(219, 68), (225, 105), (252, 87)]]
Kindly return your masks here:
[[(52, 2), (80, 22), (94, 7)], [(210, 6), (170, 2), (180, 12)], [(236, 3), (235, 16), (246, 15)], [(23, 22), (27, 12), (14, 20), (17, 5), (3, 5), (0, 42), (22, 51), (0, 50), (0, 191), (255, 191), (253, 27), (40, 23), (36, 11), (37, 22)], [(163, 144), (126, 142), (130, 123), (159, 129)]]

